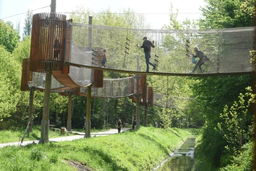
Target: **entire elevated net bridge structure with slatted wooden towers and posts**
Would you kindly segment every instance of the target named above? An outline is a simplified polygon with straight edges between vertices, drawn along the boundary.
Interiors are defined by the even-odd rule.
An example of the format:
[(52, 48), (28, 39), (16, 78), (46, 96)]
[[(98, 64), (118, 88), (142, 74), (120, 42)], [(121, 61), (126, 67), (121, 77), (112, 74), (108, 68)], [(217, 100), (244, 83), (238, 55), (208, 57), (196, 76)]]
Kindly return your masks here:
[[(72, 95), (87, 95), (86, 113), (89, 114), (86, 114), (85, 137), (90, 137), (91, 95), (129, 96), (132, 102), (136, 102), (136, 123), (139, 126), (139, 105), (145, 105), (145, 112), (148, 105), (153, 104), (175, 107), (173, 101), (177, 98), (154, 94), (153, 88), (148, 87), (146, 83), (146, 75), (220, 76), (252, 74), (255, 71), (250, 56), (250, 52), (254, 50), (254, 27), (143, 30), (95, 26), (90, 22), (90, 18), (89, 23), (73, 23), (72, 20), (66, 20), (65, 15), (56, 13), (33, 16), (30, 59), (23, 60), (21, 90), (31, 91), (27, 83), (32, 82), (32, 87), (45, 93), (41, 143), (48, 142), (50, 91), (68, 95), (69, 131)], [(138, 48), (144, 37), (154, 44), (150, 49), (149, 60), (155, 67), (154, 70), (150, 68), (148, 72), (146, 63), (149, 63), (145, 62), (148, 61), (144, 54), (145, 48), (144, 52)], [(203, 61), (200, 72), (199, 69), (193, 70), (195, 64), (192, 63), (191, 57), (193, 54), (197, 56), (196, 51), (193, 52), (196, 49), (194, 47), (204, 52), (202, 54), (205, 55), (201, 58), (208, 57), (207, 61)], [(136, 75), (129, 78), (104, 79), (104, 71)], [(34, 91), (34, 88), (32, 89)], [(32, 101), (33, 95), (30, 95), (30, 99)], [(31, 110), (32, 107), (28, 123), (32, 122)], [(145, 126), (146, 124), (147, 113)]]

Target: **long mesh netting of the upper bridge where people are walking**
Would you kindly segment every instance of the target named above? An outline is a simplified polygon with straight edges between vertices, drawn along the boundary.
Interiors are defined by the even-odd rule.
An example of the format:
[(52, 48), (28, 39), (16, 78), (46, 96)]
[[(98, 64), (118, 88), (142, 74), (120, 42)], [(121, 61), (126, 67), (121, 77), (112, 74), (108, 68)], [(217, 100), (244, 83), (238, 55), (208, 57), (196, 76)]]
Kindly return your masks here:
[[(141, 30), (69, 23), (71, 56), (66, 62), (73, 66), (101, 68), (93, 62), (92, 48), (106, 49), (106, 69), (116, 72), (145, 72), (142, 38), (155, 41), (150, 62), (157, 64), (154, 74), (188, 74), (193, 70), (188, 54), (197, 46), (210, 59), (203, 64), (204, 74), (252, 72), (250, 51), (253, 50), (254, 27), (216, 30)], [(88, 37), (91, 28), (92, 37)], [(76, 51), (76, 52), (73, 52)], [(137, 56), (138, 55), (138, 56)], [(198, 58), (196, 58), (198, 60)], [(152, 72), (152, 66), (150, 66)], [(195, 73), (200, 73), (197, 69)]]

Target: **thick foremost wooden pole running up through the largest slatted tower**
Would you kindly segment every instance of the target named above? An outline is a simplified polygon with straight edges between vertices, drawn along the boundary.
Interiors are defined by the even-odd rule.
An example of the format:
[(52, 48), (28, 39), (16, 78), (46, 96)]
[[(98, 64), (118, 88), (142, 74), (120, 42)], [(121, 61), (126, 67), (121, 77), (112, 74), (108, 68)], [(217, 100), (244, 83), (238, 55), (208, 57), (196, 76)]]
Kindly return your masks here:
[[(56, 0), (51, 0), (51, 14), (56, 12)], [(50, 25), (50, 30), (54, 30), (54, 24)], [(54, 38), (54, 32), (51, 32), (51, 38)], [(52, 84), (52, 70), (46, 69), (45, 88), (44, 88), (44, 107), (43, 119), (41, 122), (41, 138), (39, 143), (49, 142), (49, 113), (50, 113), (50, 91)]]

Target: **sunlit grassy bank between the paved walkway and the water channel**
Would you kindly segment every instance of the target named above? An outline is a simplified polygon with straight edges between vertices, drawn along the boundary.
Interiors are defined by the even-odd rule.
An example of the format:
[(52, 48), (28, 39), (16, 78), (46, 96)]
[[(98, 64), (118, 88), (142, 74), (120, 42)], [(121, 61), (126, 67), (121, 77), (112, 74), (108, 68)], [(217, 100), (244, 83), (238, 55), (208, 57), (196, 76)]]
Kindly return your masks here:
[(77, 170), (74, 166), (79, 164), (94, 171), (148, 171), (199, 131), (141, 127), (135, 133), (130, 130), (74, 141), (7, 146), (0, 149), (0, 170), (70, 171)]

